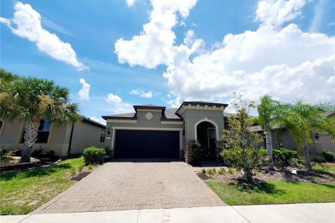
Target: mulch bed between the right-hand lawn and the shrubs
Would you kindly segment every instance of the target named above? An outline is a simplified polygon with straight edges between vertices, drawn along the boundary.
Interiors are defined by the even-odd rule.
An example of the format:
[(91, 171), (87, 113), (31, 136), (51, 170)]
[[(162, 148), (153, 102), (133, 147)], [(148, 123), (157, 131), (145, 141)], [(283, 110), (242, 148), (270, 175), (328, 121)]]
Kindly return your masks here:
[[(269, 171), (268, 169), (261, 169), (260, 171), (255, 171), (255, 176), (253, 178), (254, 182), (262, 181), (291, 181), (291, 182), (304, 182), (304, 183), (335, 183), (335, 174), (331, 174), (325, 171), (307, 171), (306, 169), (295, 169), (297, 174), (292, 174), (293, 169), (275, 169), (274, 171)], [(205, 180), (202, 173), (197, 173), (197, 175)], [(204, 174), (202, 174), (204, 175)], [(234, 171), (233, 174), (225, 173), (223, 175), (214, 175), (211, 180), (223, 183), (241, 183), (244, 180), (242, 175)]]

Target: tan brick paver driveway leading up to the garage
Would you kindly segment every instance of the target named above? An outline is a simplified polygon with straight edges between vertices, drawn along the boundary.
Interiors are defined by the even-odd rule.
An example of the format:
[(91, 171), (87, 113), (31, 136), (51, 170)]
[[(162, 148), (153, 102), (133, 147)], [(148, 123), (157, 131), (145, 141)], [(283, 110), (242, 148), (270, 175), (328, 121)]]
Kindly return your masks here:
[(33, 213), (225, 206), (184, 162), (108, 162)]

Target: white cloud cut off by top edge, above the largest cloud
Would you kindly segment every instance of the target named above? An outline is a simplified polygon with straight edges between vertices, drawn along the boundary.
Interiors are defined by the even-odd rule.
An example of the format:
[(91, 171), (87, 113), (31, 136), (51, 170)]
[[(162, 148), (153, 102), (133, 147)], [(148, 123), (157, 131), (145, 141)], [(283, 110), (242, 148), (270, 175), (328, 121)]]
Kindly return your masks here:
[(263, 24), (281, 26), (301, 14), (307, 0), (261, 0), (258, 1), (256, 21)]

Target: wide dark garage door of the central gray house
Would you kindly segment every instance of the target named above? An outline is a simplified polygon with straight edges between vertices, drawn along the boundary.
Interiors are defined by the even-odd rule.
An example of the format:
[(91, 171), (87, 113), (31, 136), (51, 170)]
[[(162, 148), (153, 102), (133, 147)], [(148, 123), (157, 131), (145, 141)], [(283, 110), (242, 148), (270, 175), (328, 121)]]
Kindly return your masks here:
[(117, 130), (115, 158), (179, 158), (178, 131)]

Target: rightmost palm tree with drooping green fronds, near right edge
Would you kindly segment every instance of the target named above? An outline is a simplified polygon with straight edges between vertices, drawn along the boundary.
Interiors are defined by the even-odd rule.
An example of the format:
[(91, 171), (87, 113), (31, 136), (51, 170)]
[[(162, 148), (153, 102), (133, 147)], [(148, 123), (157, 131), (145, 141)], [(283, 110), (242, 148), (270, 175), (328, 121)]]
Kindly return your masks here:
[(292, 134), (298, 149), (303, 149), (307, 169), (311, 170), (311, 160), (308, 146), (312, 143), (311, 131), (327, 132), (335, 140), (335, 118), (323, 115), (324, 112), (334, 112), (335, 107), (329, 104), (311, 105), (304, 100), (296, 100), (285, 105), (285, 112), (277, 121)]

